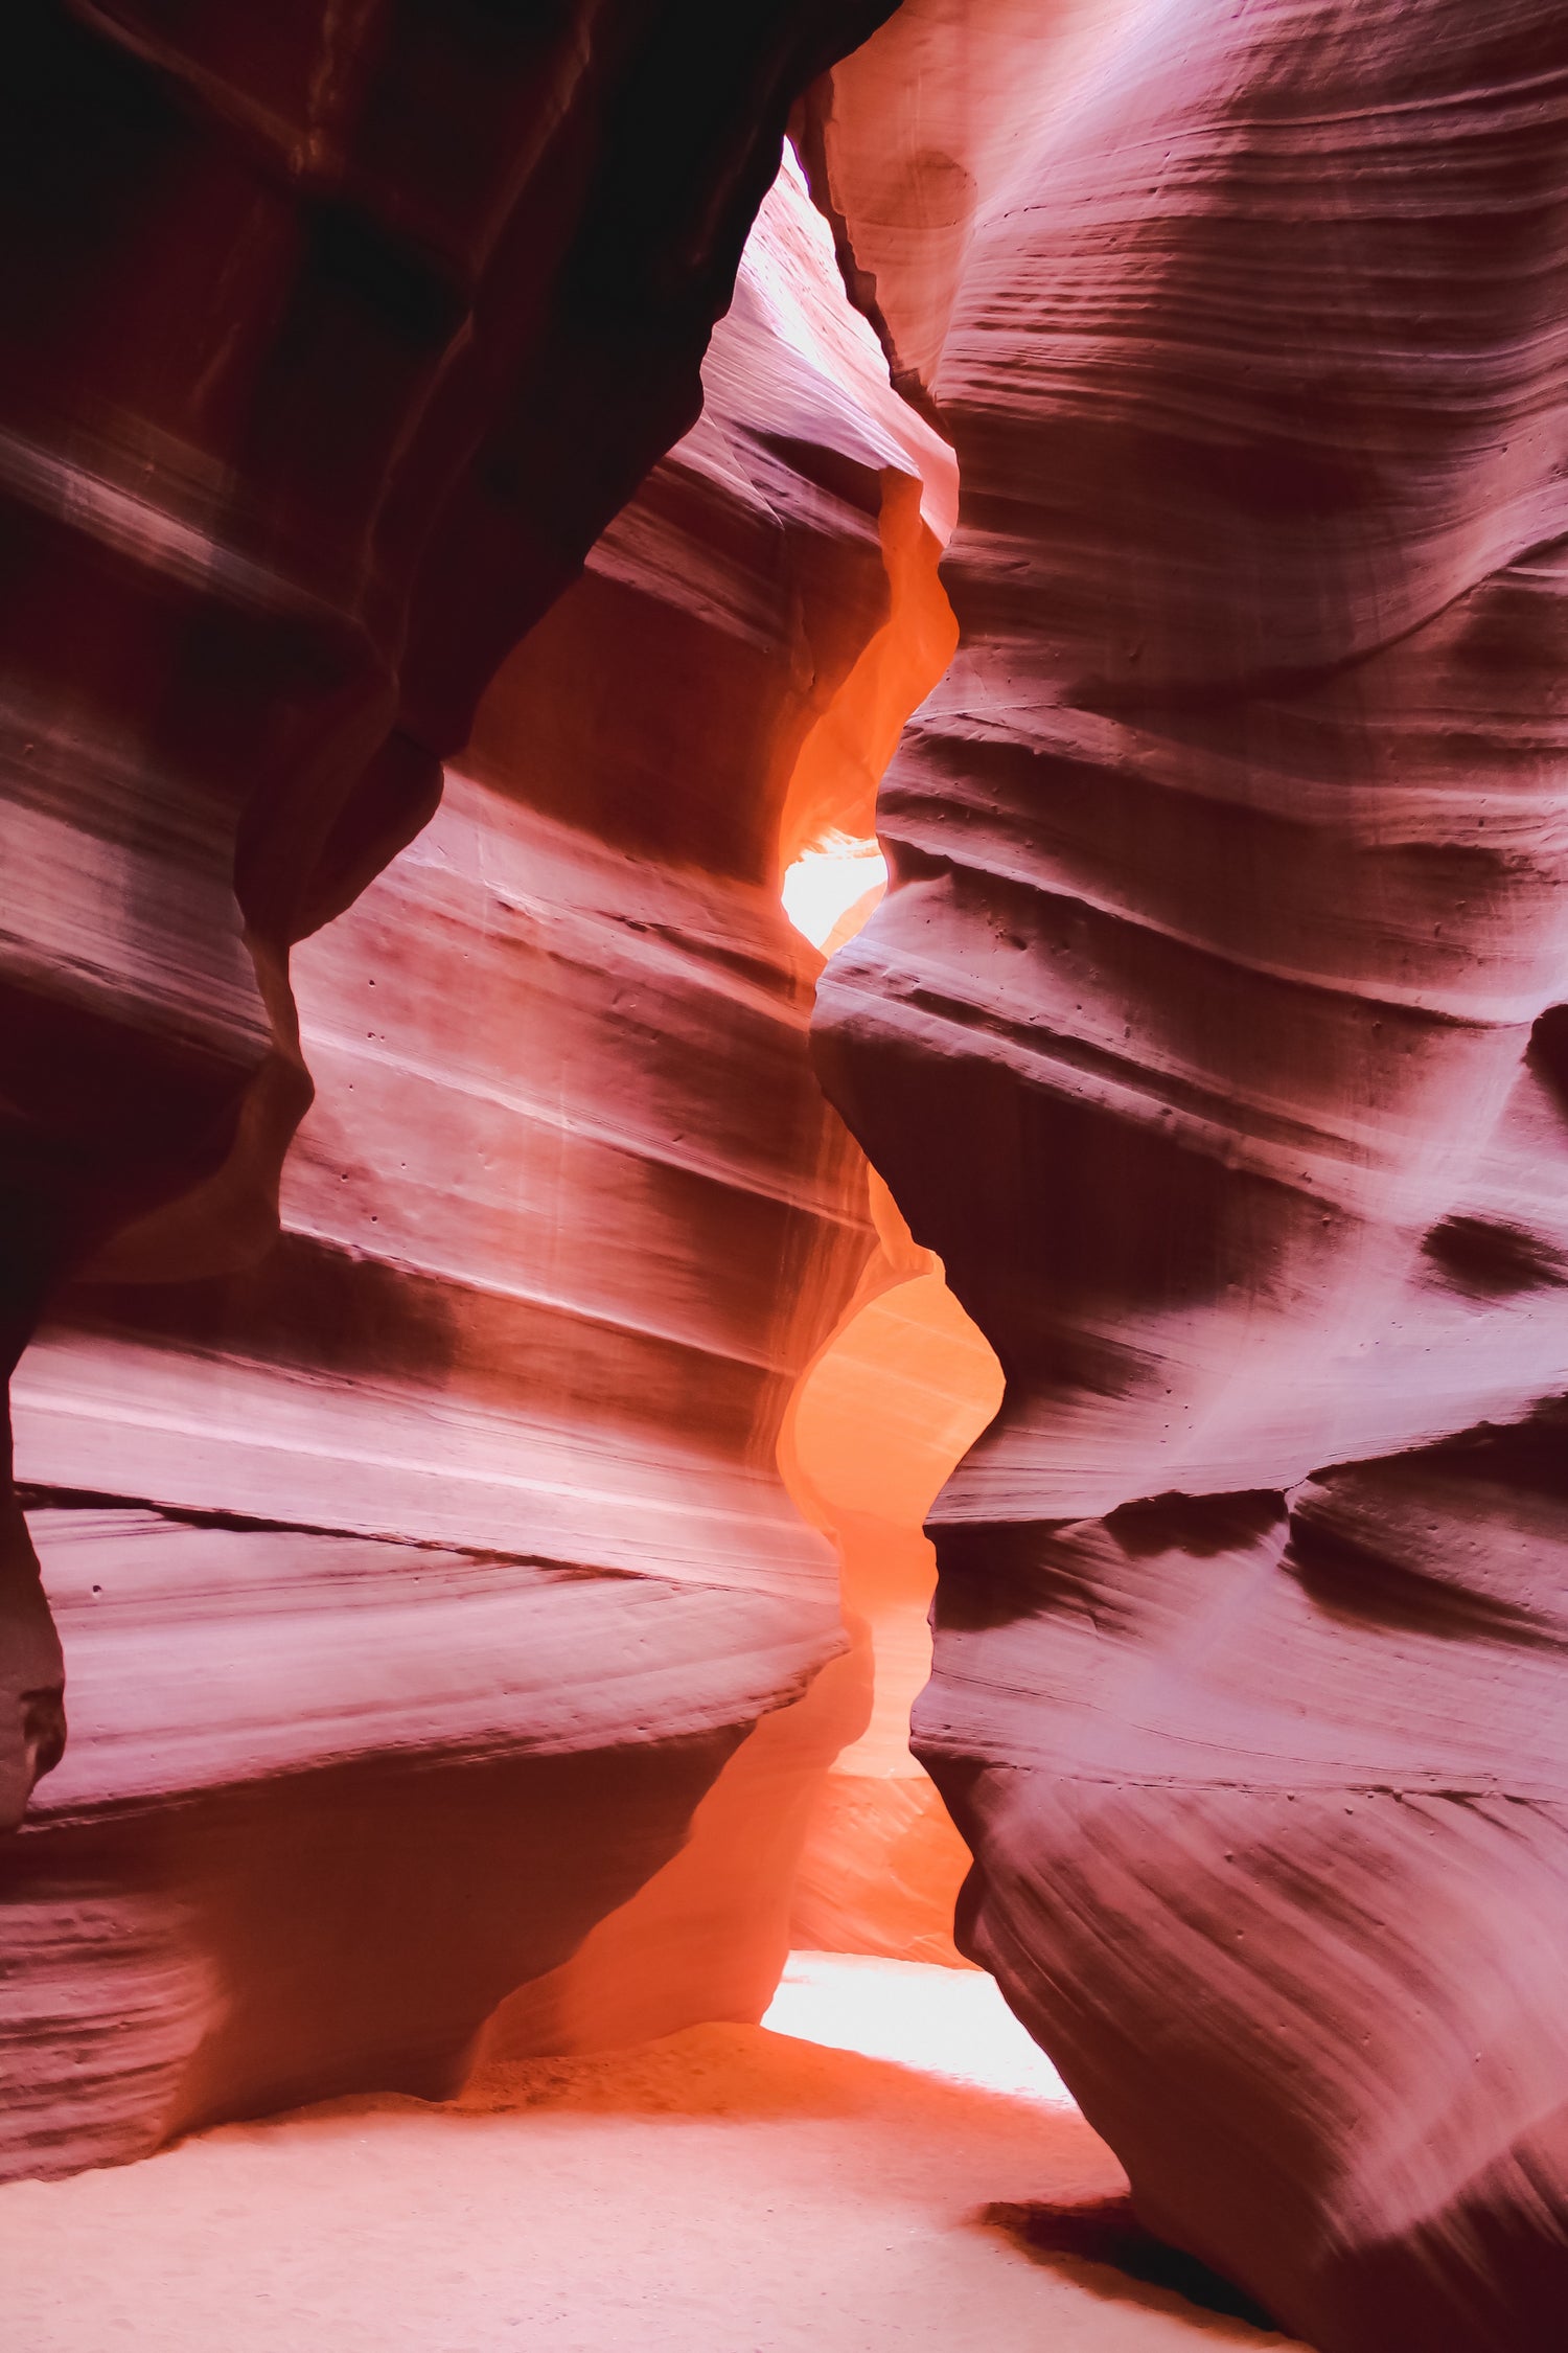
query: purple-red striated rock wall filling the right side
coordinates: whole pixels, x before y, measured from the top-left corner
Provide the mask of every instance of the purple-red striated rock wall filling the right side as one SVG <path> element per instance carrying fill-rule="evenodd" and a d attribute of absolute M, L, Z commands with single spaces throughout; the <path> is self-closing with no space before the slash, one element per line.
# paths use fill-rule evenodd
<path fill-rule="evenodd" d="M 1013 14 L 914 7 L 813 106 L 961 468 L 818 1016 L 1006 1369 L 919 1751 L 1152 2228 L 1324 2353 L 1547 2353 L 1568 26 L 1063 16 L 992 136 Z"/>

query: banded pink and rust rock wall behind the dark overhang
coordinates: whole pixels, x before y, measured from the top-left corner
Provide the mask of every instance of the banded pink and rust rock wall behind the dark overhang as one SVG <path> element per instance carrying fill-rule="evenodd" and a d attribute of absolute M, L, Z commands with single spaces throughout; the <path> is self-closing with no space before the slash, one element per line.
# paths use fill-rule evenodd
<path fill-rule="evenodd" d="M 12 2172 L 451 2087 L 524 1981 L 501 2047 L 771 1995 L 865 1720 L 776 1442 L 872 1245 L 778 835 L 820 729 L 875 753 L 936 442 L 799 176 L 705 374 L 435 821 L 296 951 L 277 1247 L 80 1282 L 16 1374 L 75 1732 L 0 1859 Z"/>

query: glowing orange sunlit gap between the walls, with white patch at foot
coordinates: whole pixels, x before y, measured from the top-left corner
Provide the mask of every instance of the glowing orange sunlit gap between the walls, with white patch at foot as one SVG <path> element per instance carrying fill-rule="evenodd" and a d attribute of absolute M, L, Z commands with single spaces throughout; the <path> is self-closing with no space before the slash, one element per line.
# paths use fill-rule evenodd
<path fill-rule="evenodd" d="M 926 673 L 919 656 L 905 661 L 905 694 L 929 692 L 940 675 L 936 654 L 945 666 L 950 649 L 933 626 L 936 553 L 931 536 L 917 600 Z M 898 624 L 893 593 L 886 668 L 898 668 L 898 645 L 886 642 Z M 886 725 L 886 704 L 879 720 Z M 865 798 L 851 812 L 842 772 L 835 779 L 827 762 L 818 791 L 837 784 L 823 795 L 835 814 L 870 819 L 877 769 L 842 713 L 835 748 L 858 767 Z M 792 798 L 799 821 L 806 812 Z M 870 922 L 886 882 L 875 835 L 832 824 L 783 868 L 780 896 L 790 922 L 827 958 Z M 969 1969 L 952 1944 L 969 1854 L 910 1753 L 910 1706 L 931 1671 L 926 1609 L 936 1581 L 922 1522 L 997 1412 L 1001 1369 L 947 1289 L 940 1259 L 912 1238 L 872 1167 L 867 1200 L 877 1247 L 795 1391 L 778 1457 L 795 1501 L 839 1551 L 867 1720 L 816 1800 L 795 1889 L 795 1953 L 764 2024 L 959 2082 L 1067 2101 L 992 1981 Z"/>

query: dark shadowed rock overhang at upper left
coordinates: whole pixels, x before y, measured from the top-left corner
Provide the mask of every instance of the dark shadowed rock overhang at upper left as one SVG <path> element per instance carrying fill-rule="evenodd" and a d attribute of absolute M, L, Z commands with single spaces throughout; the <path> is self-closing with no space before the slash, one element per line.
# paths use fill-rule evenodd
<path fill-rule="evenodd" d="M 5 1372 L 94 1252 L 273 1238 L 289 944 L 696 416 L 790 101 L 879 7 L 7 12 Z M 12 1821 L 59 1649 L 12 1504 L 0 1546 Z"/>

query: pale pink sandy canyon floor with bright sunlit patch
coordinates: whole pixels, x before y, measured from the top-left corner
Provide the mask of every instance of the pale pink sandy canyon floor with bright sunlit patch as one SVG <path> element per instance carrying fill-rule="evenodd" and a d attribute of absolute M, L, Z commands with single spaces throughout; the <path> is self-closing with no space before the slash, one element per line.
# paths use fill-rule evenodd
<path fill-rule="evenodd" d="M 1135 2278 L 1135 2252 L 1131 2268 L 1063 2252 L 1063 2214 L 1072 2242 L 1072 2217 L 1126 2184 L 990 1979 L 799 1955 L 769 2021 L 494 2068 L 449 2106 L 334 2101 L 143 2165 L 14 2184 L 0 2191 L 5 2341 L 28 2353 L 1288 2341 Z"/>

